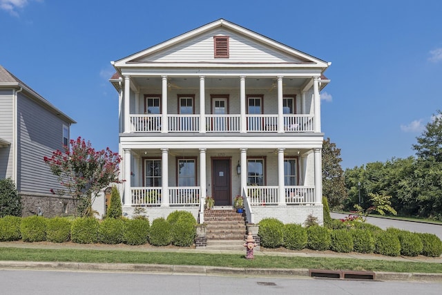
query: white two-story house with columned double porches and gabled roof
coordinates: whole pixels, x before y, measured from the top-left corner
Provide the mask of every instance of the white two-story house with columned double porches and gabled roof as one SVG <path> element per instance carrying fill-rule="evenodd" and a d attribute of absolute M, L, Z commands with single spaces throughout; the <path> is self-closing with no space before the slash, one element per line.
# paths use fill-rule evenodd
<path fill-rule="evenodd" d="M 330 65 L 219 19 L 112 61 L 124 213 L 323 221 L 320 90 Z"/>

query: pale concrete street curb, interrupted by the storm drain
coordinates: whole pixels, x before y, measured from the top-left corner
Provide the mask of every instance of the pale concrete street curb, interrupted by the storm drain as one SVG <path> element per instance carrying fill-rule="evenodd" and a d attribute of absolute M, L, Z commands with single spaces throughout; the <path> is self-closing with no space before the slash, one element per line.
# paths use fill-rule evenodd
<path fill-rule="evenodd" d="M 70 271 L 155 272 L 167 274 L 204 274 L 235 276 L 307 276 L 309 269 L 262 269 L 212 267 L 198 265 L 157 265 L 135 263 L 61 263 L 32 261 L 0 261 L 0 269 L 46 269 Z M 442 281 L 442 274 L 374 272 L 376 280 Z"/>

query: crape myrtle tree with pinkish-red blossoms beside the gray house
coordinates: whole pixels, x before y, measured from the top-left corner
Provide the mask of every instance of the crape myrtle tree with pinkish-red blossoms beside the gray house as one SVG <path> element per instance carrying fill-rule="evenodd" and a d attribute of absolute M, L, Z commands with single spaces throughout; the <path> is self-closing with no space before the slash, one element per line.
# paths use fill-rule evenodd
<path fill-rule="evenodd" d="M 64 146 L 64 151 L 53 151 L 52 157 L 44 157 L 44 162 L 64 187 L 57 193 L 73 197 L 76 216 L 93 216 L 92 204 L 97 194 L 109 184 L 119 182 L 118 153 L 109 148 L 95 151 L 81 137 L 70 140 L 70 147 Z M 53 189 L 51 192 L 55 193 Z"/>

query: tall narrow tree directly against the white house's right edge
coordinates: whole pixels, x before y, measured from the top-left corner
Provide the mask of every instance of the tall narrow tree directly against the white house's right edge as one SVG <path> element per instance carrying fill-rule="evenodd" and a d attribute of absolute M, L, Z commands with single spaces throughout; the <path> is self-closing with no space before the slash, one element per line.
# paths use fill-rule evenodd
<path fill-rule="evenodd" d="M 347 199 L 344 171 L 340 166 L 340 149 L 330 139 L 323 142 L 323 196 L 332 209 L 341 209 Z"/>

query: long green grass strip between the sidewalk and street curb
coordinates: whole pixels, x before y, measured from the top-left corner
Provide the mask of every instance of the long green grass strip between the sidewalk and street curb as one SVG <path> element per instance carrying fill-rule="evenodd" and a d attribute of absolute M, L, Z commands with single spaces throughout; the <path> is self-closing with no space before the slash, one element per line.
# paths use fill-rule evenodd
<path fill-rule="evenodd" d="M 0 260 L 205 265 L 244 268 L 348 269 L 374 272 L 442 273 L 441 263 L 297 256 L 255 256 L 255 259 L 247 260 L 244 258 L 244 255 L 240 254 L 202 254 L 120 250 L 23 249 L 8 247 L 0 249 Z"/>

